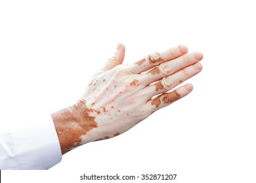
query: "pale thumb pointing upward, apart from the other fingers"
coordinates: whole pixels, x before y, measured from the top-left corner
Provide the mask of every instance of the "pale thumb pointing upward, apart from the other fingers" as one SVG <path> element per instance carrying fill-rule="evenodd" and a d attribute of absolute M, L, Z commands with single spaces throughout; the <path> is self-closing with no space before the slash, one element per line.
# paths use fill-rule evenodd
<path fill-rule="evenodd" d="M 116 67 L 116 65 L 123 63 L 124 58 L 125 58 L 125 45 L 119 43 L 117 46 L 116 52 L 111 58 L 108 59 L 108 61 L 106 62 L 106 65 L 104 65 L 104 67 L 101 70 L 108 71 Z"/>

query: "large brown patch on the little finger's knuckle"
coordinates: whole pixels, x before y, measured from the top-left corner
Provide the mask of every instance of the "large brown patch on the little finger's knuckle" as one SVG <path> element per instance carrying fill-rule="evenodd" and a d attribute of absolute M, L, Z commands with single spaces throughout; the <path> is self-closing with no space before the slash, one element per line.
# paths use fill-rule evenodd
<path fill-rule="evenodd" d="M 181 95 L 177 92 L 177 90 L 174 90 L 173 92 L 159 95 L 152 100 L 151 105 L 159 107 L 161 103 L 173 103 L 179 99 L 181 99 Z"/>

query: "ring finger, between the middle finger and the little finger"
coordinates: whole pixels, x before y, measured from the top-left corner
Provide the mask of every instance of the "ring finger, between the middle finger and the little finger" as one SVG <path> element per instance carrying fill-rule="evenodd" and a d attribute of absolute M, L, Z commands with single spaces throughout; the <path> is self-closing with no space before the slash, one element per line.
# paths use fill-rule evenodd
<path fill-rule="evenodd" d="M 185 80 L 188 80 L 192 76 L 197 75 L 201 71 L 201 63 L 195 63 L 194 65 L 190 65 L 171 76 L 162 78 L 150 86 L 146 86 L 146 88 L 143 90 L 143 93 L 148 93 L 148 96 L 153 97 L 155 95 L 159 95 L 160 93 L 168 92 Z"/>

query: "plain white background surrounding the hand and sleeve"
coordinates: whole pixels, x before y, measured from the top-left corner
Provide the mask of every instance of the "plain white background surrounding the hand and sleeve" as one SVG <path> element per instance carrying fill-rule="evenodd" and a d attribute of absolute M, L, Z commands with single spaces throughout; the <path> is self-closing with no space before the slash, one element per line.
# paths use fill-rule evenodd
<path fill-rule="evenodd" d="M 125 63 L 179 44 L 204 55 L 184 99 L 119 137 L 72 150 L 49 171 L 2 171 L 2 181 L 118 173 L 256 182 L 255 17 L 245 0 L 0 1 L 1 122 L 36 122 L 73 105 L 118 42 Z"/>

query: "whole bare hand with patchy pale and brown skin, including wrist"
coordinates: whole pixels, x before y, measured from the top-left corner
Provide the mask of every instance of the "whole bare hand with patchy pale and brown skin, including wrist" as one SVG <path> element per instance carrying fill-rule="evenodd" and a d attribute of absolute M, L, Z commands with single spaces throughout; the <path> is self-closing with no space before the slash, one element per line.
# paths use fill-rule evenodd
<path fill-rule="evenodd" d="M 166 93 L 202 71 L 198 63 L 202 53 L 187 52 L 186 46 L 178 46 L 123 65 L 125 46 L 119 44 L 81 99 L 52 114 L 62 154 L 87 142 L 115 137 L 188 95 L 192 84 Z"/>

